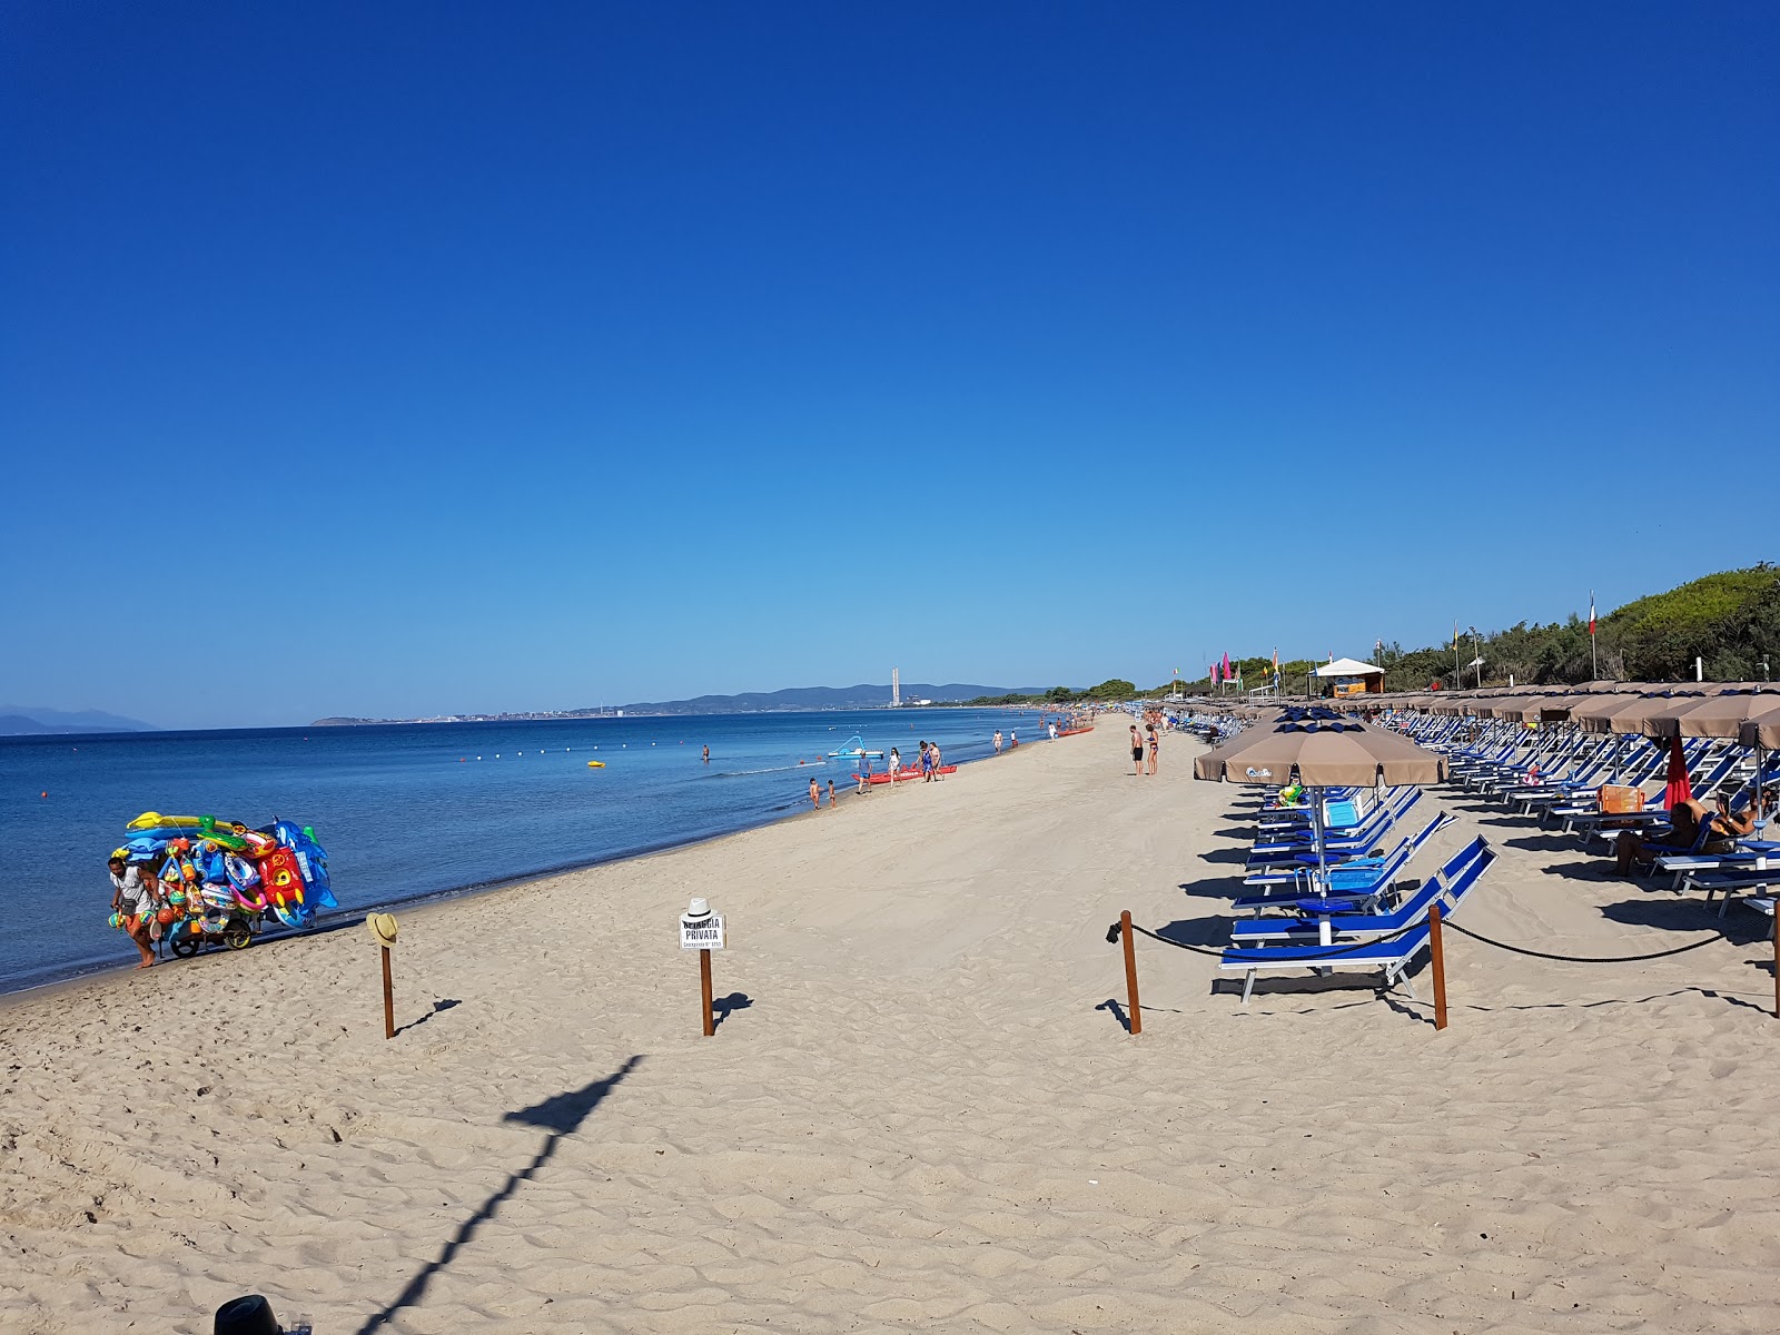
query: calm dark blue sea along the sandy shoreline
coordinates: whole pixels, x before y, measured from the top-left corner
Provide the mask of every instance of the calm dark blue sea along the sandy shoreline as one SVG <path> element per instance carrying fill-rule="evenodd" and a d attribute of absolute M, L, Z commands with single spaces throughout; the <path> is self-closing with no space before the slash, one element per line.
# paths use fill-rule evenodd
<path fill-rule="evenodd" d="M 1036 742 L 1040 716 L 878 708 L 0 737 L 0 991 L 135 963 L 107 922 L 105 858 L 141 812 L 313 826 L 335 918 L 352 920 L 780 821 L 808 810 L 812 776 L 849 801 L 856 765 L 828 753 L 854 735 L 899 748 L 904 765 L 922 739 L 947 764 L 974 764 L 993 755 L 997 728 Z"/>

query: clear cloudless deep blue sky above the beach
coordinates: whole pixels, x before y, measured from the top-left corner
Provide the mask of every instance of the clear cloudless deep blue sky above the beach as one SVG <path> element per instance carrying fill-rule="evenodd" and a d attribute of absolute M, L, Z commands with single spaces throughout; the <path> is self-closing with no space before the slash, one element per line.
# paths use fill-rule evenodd
<path fill-rule="evenodd" d="M 1155 682 L 1776 555 L 1728 481 L 1780 427 L 1775 5 L 27 0 L 0 46 L 4 700 Z"/>

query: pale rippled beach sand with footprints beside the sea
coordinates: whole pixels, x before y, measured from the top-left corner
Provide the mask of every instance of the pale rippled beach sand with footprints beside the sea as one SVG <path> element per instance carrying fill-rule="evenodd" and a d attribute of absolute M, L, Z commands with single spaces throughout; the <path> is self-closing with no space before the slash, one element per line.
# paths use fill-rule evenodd
<path fill-rule="evenodd" d="M 1143 942 L 1132 1038 L 1105 927 L 1226 940 L 1246 794 L 1184 739 L 1132 778 L 1123 737 L 406 911 L 395 1041 L 363 927 L 5 1004 L 0 1330 L 208 1331 L 255 1290 L 329 1335 L 1773 1324 L 1766 918 L 1641 965 L 1454 942 L 1440 1034 Z M 1716 924 L 1481 821 L 1415 867 L 1488 833 L 1481 931 Z"/>

